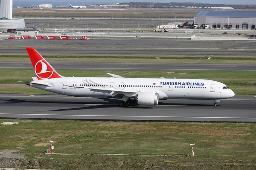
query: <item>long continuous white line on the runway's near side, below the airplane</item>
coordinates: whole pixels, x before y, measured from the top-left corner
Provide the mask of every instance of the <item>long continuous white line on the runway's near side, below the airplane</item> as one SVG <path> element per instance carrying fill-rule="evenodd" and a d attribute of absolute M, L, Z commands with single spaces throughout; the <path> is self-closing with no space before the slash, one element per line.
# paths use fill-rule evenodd
<path fill-rule="evenodd" d="M 256 117 L 199 117 L 199 116 L 123 116 L 123 115 L 77 115 L 77 114 L 23 114 L 0 113 L 0 115 L 27 115 L 27 116 L 84 116 L 84 117 L 145 117 L 145 118 L 200 118 L 200 119 L 256 119 Z"/>

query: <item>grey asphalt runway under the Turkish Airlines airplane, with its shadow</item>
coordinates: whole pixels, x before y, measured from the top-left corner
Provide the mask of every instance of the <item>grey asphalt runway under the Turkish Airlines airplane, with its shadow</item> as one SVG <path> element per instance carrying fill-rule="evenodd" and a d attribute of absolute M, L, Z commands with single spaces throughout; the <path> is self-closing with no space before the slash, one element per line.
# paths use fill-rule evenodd
<path fill-rule="evenodd" d="M 131 121 L 256 122 L 256 96 L 210 100 L 162 100 L 157 106 L 120 108 L 119 100 L 62 95 L 0 94 L 1 118 Z"/>

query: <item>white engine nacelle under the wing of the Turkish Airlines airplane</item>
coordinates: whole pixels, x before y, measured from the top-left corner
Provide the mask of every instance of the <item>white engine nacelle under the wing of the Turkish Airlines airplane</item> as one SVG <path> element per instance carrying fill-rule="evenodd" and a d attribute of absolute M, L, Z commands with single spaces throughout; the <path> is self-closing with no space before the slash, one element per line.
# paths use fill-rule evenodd
<path fill-rule="evenodd" d="M 135 101 L 138 105 L 154 106 L 158 105 L 158 96 L 155 92 L 139 93 L 136 94 Z"/>

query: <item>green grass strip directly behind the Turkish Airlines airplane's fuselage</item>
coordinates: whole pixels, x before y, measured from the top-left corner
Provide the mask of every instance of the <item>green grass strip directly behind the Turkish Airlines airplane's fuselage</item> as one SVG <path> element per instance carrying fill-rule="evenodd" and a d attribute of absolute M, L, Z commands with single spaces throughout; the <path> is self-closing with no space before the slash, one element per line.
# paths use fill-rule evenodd
<path fill-rule="evenodd" d="M 65 77 L 110 77 L 106 73 L 134 78 L 176 78 L 176 79 L 211 79 L 228 85 L 235 94 L 256 94 L 256 72 L 223 72 L 223 71 L 109 71 L 109 70 L 57 70 Z M 24 83 L 32 81 L 33 70 L 0 70 L 0 93 L 48 94 Z M 15 73 L 15 74 L 14 74 Z M 22 84 L 22 85 L 15 85 Z M 26 88 L 28 87 L 28 88 Z"/>

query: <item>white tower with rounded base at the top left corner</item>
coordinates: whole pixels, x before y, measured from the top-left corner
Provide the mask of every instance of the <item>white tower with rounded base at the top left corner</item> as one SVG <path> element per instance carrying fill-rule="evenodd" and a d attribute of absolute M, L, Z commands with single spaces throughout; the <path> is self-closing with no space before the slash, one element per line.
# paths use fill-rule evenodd
<path fill-rule="evenodd" d="M 25 21 L 12 20 L 12 0 L 0 0 L 0 31 L 13 32 L 17 28 L 25 28 Z"/>

